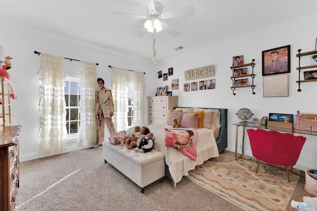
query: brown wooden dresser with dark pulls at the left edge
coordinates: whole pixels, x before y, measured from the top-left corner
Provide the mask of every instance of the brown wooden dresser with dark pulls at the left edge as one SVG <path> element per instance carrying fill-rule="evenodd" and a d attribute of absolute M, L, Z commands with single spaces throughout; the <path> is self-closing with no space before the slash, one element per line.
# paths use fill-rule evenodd
<path fill-rule="evenodd" d="M 19 187 L 21 126 L 0 127 L 0 211 L 14 211 Z"/>

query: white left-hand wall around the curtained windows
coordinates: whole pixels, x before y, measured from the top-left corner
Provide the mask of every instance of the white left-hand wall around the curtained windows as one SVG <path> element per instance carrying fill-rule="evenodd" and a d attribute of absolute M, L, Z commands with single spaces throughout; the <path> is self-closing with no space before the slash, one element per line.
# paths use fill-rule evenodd
<path fill-rule="evenodd" d="M 40 56 L 34 51 L 62 56 L 82 61 L 99 63 L 97 76 L 105 80 L 111 88 L 111 69 L 108 65 L 140 72 L 149 72 L 146 80 L 156 76 L 156 66 L 151 60 L 125 55 L 93 43 L 74 38 L 66 38 L 52 32 L 22 25 L 1 17 L 0 45 L 5 47 L 5 55 L 10 55 L 12 68 L 9 71 L 11 83 L 16 89 L 17 99 L 11 100 L 11 125 L 22 125 L 20 134 L 20 160 L 41 158 L 38 154 L 39 130 L 39 84 L 37 71 Z M 79 76 L 80 62 L 65 59 L 65 72 Z M 153 71 L 151 71 L 153 70 Z M 96 79 L 97 80 L 97 79 Z M 97 81 L 96 81 L 97 87 Z M 151 89 L 149 89 L 151 90 Z M 151 93 L 147 93 L 147 96 Z M 107 131 L 106 131 L 107 132 Z M 81 149 L 76 142 L 66 144 L 66 151 Z"/>

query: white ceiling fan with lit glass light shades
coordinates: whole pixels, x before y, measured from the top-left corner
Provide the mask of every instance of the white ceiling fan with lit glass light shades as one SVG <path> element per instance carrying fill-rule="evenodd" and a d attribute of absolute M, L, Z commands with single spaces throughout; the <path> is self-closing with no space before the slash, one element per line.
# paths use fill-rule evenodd
<path fill-rule="evenodd" d="M 179 35 L 179 32 L 165 23 L 160 19 L 169 19 L 169 18 L 176 18 L 176 17 L 183 17 L 188 15 L 195 14 L 194 6 L 188 6 L 184 8 L 179 8 L 176 10 L 172 10 L 169 12 L 163 11 L 163 5 L 154 0 L 145 0 L 146 1 L 146 8 L 148 10 L 147 15 L 138 15 L 138 14 L 130 14 L 130 13 L 122 13 L 122 12 L 112 12 L 114 16 L 121 16 L 121 17 L 128 17 L 128 18 L 141 18 L 141 19 L 148 19 L 144 23 L 143 29 L 139 32 L 138 36 L 142 37 L 145 33 L 159 33 L 162 30 L 167 31 L 171 36 L 176 37 Z"/>

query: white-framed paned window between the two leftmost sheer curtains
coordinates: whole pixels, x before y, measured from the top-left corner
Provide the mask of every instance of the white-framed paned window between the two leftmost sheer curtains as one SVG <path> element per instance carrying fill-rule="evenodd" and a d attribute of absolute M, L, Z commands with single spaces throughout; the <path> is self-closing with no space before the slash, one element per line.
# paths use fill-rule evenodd
<path fill-rule="evenodd" d="M 65 102 L 66 102 L 66 129 L 67 137 L 78 136 L 80 114 L 79 99 L 80 86 L 78 77 L 66 76 L 65 79 Z"/>

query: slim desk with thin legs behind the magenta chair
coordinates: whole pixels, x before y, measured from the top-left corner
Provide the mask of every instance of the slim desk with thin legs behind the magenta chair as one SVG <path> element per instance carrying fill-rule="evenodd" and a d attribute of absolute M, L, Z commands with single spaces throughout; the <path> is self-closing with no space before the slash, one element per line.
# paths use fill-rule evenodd
<path fill-rule="evenodd" d="M 306 131 L 306 130 L 299 130 L 299 129 L 295 129 L 295 128 L 287 129 L 287 128 L 280 128 L 280 127 L 267 127 L 267 126 L 263 126 L 263 125 L 261 125 L 259 127 L 259 126 L 249 126 L 249 125 L 245 125 L 245 124 L 242 124 L 242 123 L 235 123 L 233 125 L 236 126 L 236 148 L 235 148 L 235 155 L 234 155 L 234 160 L 235 161 L 237 160 L 238 129 L 239 129 L 240 126 L 243 127 L 243 130 L 242 130 L 242 153 L 240 155 L 240 158 L 242 158 L 242 156 L 244 155 L 245 127 L 253 127 L 253 128 L 261 128 L 261 129 L 268 129 L 268 130 L 283 131 L 283 132 L 291 132 L 292 134 L 299 133 L 299 134 L 317 135 L 317 131 Z"/>

